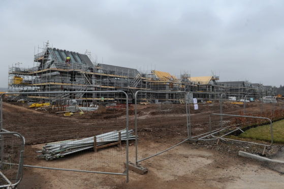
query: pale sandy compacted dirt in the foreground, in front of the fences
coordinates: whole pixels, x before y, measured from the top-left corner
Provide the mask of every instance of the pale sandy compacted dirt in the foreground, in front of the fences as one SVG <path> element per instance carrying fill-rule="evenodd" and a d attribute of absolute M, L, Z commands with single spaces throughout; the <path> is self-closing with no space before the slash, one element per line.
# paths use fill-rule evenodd
<path fill-rule="evenodd" d="M 166 148 L 154 143 L 153 147 Z M 149 153 L 154 151 L 149 150 Z M 134 160 L 134 146 L 130 159 Z M 24 169 L 18 188 L 282 188 L 284 176 L 236 153 L 183 143 L 142 163 L 148 173 L 110 176 L 56 170 Z"/>

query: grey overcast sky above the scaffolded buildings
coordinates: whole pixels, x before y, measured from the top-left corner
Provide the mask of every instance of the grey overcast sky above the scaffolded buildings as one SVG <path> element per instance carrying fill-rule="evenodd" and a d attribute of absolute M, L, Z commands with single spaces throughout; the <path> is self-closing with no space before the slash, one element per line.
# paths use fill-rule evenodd
<path fill-rule="evenodd" d="M 279 86 L 283 18 L 284 1 L 0 0 L 0 86 L 48 40 L 115 66 Z"/>

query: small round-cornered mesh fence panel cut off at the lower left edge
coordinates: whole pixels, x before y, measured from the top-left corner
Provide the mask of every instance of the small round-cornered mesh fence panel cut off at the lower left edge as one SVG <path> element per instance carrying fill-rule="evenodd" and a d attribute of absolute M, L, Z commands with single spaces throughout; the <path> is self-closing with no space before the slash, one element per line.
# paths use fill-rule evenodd
<path fill-rule="evenodd" d="M 14 188 L 23 177 L 24 137 L 17 132 L 4 131 L 0 132 L 0 139 L 0 176 L 3 178 L 0 188 Z"/>

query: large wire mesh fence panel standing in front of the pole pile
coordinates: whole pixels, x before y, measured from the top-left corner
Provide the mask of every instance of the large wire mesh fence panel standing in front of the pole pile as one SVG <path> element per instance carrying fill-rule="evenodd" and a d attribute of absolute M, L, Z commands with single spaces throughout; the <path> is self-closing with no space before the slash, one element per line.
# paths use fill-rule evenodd
<path fill-rule="evenodd" d="M 125 95 L 125 109 L 119 112 L 107 109 L 114 103 L 96 98 L 115 93 Z M 8 96 L 17 102 L 3 102 Z M 35 98 L 42 104 L 32 105 Z M 1 129 L 25 137 L 24 167 L 124 175 L 128 181 L 129 139 L 134 139 L 128 110 L 128 95 L 121 90 L 72 91 L 72 96 L 70 91 L 10 92 L 1 96 Z M 120 124 L 114 121 L 117 116 L 123 117 Z"/>

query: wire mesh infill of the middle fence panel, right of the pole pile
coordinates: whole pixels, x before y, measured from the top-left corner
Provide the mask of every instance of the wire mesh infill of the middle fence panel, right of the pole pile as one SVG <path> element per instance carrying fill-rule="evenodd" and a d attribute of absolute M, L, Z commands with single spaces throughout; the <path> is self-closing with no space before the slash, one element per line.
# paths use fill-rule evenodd
<path fill-rule="evenodd" d="M 163 150 L 187 139 L 186 106 L 176 99 L 178 96 L 181 97 L 178 92 L 145 93 L 150 98 L 148 102 L 152 104 L 137 105 L 135 119 L 139 136 L 137 162 L 144 161 L 154 154 L 163 153 Z M 167 111 L 161 111 L 164 110 L 161 105 L 164 105 L 163 108 Z"/>

